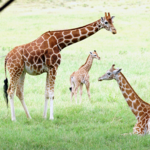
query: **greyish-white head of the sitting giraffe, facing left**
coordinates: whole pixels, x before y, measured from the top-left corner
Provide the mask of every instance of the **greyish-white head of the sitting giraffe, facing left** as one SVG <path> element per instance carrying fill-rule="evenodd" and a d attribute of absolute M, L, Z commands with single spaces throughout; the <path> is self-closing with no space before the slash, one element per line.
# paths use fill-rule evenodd
<path fill-rule="evenodd" d="M 112 80 L 118 79 L 118 74 L 121 72 L 121 69 L 115 69 L 114 68 L 114 64 L 112 65 L 112 67 L 101 77 L 98 78 L 98 81 L 103 81 L 103 80 Z"/>

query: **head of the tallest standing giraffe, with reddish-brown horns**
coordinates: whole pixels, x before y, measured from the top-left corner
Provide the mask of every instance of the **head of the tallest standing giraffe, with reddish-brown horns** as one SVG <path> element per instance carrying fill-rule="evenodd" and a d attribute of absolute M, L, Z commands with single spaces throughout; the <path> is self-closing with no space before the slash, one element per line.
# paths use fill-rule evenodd
<path fill-rule="evenodd" d="M 114 25 L 113 25 L 113 19 L 115 16 L 110 16 L 110 13 L 105 12 L 105 17 L 101 17 L 101 24 L 102 27 L 105 28 L 106 30 L 112 32 L 112 34 L 116 34 L 117 30 L 115 29 Z"/>

